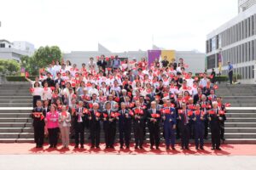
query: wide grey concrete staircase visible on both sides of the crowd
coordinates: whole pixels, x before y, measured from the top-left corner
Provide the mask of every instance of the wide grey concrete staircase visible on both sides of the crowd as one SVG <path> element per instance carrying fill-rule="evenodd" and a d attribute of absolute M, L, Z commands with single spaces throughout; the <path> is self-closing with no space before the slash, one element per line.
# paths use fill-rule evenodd
<path fill-rule="evenodd" d="M 29 88 L 28 82 L 0 84 L 0 142 L 33 142 Z M 256 144 L 256 86 L 220 84 L 217 94 L 231 104 L 226 113 L 225 143 Z"/>

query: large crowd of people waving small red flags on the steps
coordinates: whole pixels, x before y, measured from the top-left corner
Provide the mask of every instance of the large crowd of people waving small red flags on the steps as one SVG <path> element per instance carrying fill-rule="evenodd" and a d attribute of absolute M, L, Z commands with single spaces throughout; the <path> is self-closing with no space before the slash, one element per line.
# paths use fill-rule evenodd
<path fill-rule="evenodd" d="M 99 148 L 101 131 L 106 149 L 113 148 L 119 134 L 120 149 L 129 149 L 134 138 L 135 149 L 143 149 L 148 138 L 150 149 L 159 150 L 164 139 L 166 150 L 204 150 L 204 139 L 211 129 L 212 150 L 220 150 L 224 140 L 225 107 L 216 96 L 215 75 L 201 73 L 192 77 L 183 59 L 137 61 L 104 55 L 90 58 L 79 69 L 69 60 L 55 61 L 40 69 L 32 83 L 32 118 L 37 148 L 42 148 L 45 134 L 49 147 L 55 148 L 59 137 L 67 148 L 70 137 L 75 148 L 84 148 L 84 129 L 90 132 L 90 147 Z M 133 137 L 133 138 L 131 138 Z"/>

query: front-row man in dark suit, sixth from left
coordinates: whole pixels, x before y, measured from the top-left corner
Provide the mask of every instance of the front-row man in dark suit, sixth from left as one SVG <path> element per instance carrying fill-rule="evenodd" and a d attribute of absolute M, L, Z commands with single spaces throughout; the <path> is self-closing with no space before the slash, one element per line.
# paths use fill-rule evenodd
<path fill-rule="evenodd" d="M 115 111 L 111 109 L 111 103 L 106 102 L 105 104 L 105 110 L 102 111 L 103 114 L 103 129 L 105 133 L 105 143 L 106 143 L 106 149 L 112 148 L 114 144 L 115 139 L 115 133 L 116 133 L 116 116 Z"/>

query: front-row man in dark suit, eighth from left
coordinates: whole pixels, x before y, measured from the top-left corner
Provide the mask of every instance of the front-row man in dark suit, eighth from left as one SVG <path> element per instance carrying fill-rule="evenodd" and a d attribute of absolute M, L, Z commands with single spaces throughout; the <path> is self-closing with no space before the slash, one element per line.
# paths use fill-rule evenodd
<path fill-rule="evenodd" d="M 134 113 L 134 138 L 135 138 L 135 149 L 140 147 L 143 149 L 144 140 L 144 126 L 146 113 L 140 105 L 139 100 L 135 102 L 136 107 L 132 109 Z"/>

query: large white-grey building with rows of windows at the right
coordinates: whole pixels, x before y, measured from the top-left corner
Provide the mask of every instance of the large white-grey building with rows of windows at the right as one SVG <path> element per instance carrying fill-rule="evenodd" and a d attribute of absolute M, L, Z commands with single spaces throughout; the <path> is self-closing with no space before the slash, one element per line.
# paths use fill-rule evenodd
<path fill-rule="evenodd" d="M 227 75 L 230 61 L 241 83 L 256 83 L 256 0 L 239 4 L 243 8 L 235 18 L 207 35 L 207 71 L 218 70 L 220 59 L 221 73 Z"/>

